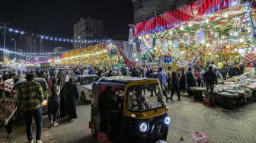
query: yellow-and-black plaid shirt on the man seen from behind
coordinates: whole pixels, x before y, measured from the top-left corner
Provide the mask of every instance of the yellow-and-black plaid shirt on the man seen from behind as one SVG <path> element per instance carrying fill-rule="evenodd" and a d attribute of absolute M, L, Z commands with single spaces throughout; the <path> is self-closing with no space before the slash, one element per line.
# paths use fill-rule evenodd
<path fill-rule="evenodd" d="M 40 83 L 29 81 L 18 91 L 18 105 L 22 110 L 36 110 L 43 103 L 43 88 Z"/>

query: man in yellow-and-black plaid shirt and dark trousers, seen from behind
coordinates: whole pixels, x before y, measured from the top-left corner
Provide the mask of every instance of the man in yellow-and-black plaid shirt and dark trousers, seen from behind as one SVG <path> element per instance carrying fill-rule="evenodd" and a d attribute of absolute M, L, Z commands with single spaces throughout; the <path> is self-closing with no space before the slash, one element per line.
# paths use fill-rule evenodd
<path fill-rule="evenodd" d="M 43 143 L 40 140 L 42 130 L 42 103 L 43 88 L 39 83 L 34 82 L 34 75 L 26 76 L 27 83 L 22 85 L 18 91 L 18 105 L 23 110 L 28 143 L 33 143 L 32 118 L 34 117 L 37 124 L 37 143 Z"/>

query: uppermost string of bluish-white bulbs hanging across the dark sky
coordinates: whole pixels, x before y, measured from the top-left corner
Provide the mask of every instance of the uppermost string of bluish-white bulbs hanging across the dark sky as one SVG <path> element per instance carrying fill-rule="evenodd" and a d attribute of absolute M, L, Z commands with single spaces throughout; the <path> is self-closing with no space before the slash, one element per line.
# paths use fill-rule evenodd
<path fill-rule="evenodd" d="M 21 35 L 30 34 L 32 36 L 40 37 L 43 40 L 50 40 L 50 41 L 63 42 L 63 43 L 101 43 L 101 42 L 107 42 L 108 41 L 106 39 L 102 39 L 102 40 L 82 40 L 80 38 L 70 39 L 70 38 L 62 38 L 62 37 L 50 37 L 50 36 L 46 36 L 46 35 L 43 35 L 43 34 L 30 33 L 30 32 L 26 32 L 26 31 L 23 31 L 23 30 L 13 29 L 11 27 L 0 26 L 0 29 L 1 28 L 7 28 L 8 29 L 7 31 L 10 32 L 10 33 L 17 33 L 17 34 L 21 34 Z"/>

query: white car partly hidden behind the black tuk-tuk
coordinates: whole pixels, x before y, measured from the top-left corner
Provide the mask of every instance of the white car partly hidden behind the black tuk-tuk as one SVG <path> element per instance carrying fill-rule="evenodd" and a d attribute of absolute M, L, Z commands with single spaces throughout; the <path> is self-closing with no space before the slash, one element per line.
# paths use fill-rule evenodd
<path fill-rule="evenodd" d="M 76 75 L 76 86 L 78 88 L 79 97 L 83 102 L 91 101 L 92 95 L 92 83 L 96 78 L 97 75 Z"/>

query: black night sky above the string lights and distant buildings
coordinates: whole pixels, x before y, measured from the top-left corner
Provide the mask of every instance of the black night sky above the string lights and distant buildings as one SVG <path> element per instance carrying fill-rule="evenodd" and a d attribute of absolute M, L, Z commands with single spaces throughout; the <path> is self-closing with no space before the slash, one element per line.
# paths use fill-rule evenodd
<path fill-rule="evenodd" d="M 130 0 L 1 0 L 0 21 L 8 27 L 51 37 L 73 37 L 73 25 L 80 17 L 102 20 L 104 35 L 113 40 L 127 40 L 128 24 L 133 24 Z M 2 31 L 2 30 L 1 30 Z M 7 34 L 11 46 L 13 34 Z M 3 36 L 0 34 L 0 46 Z M 71 44 L 46 42 L 47 51 L 55 46 L 71 48 Z M 10 47 L 11 48 L 11 47 Z M 8 48 L 8 49 L 10 49 Z M 12 49 L 12 48 L 11 48 Z"/>

